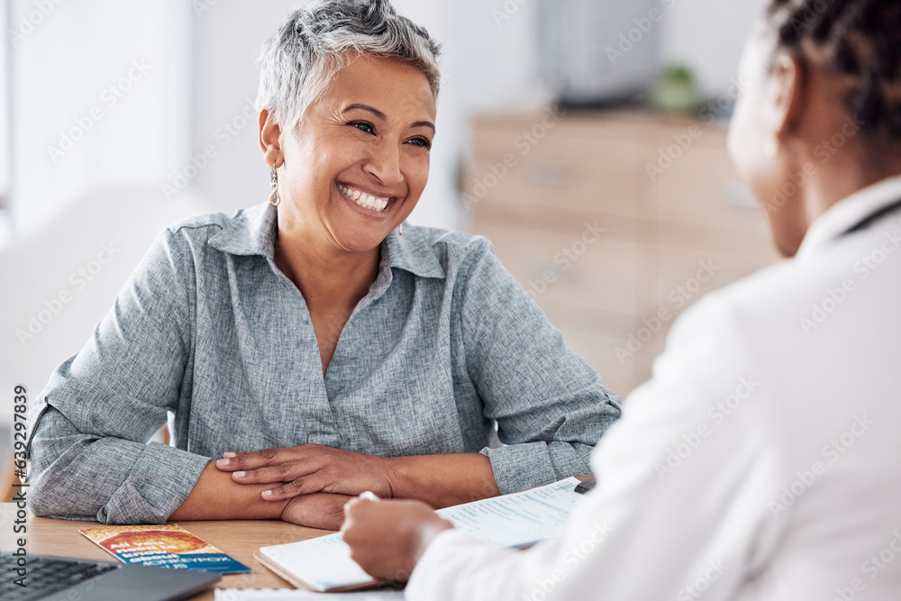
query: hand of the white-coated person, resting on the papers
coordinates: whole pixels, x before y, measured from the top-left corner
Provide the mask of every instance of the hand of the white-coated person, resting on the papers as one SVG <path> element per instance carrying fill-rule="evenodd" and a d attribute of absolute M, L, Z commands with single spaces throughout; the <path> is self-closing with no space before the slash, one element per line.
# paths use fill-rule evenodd
<path fill-rule="evenodd" d="M 344 505 L 341 535 L 350 558 L 369 576 L 403 582 L 439 533 L 453 524 L 422 501 L 370 501 Z"/>

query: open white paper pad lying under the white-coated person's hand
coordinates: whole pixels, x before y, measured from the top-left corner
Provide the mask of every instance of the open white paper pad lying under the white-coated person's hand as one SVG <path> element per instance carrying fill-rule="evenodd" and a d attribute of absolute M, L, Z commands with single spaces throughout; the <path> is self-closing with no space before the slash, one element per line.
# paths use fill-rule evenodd
<path fill-rule="evenodd" d="M 503 547 L 528 547 L 563 532 L 582 498 L 577 478 L 567 478 L 513 495 L 495 496 L 440 509 L 437 514 L 462 533 Z M 354 560 L 341 534 L 262 547 L 260 563 L 296 587 L 340 592 L 378 585 Z"/>

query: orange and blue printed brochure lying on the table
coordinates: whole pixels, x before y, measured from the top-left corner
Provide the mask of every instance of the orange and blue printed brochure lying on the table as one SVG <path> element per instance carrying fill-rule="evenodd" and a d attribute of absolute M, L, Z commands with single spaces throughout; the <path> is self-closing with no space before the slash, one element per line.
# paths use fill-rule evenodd
<path fill-rule="evenodd" d="M 78 532 L 123 563 L 159 568 L 196 569 L 217 574 L 252 571 L 203 539 L 176 524 L 100 526 Z"/>

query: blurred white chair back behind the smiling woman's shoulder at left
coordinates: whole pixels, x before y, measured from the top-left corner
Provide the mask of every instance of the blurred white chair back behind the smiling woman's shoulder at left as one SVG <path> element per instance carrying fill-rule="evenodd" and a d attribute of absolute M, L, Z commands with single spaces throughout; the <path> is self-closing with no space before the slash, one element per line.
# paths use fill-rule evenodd
<path fill-rule="evenodd" d="M 23 384 L 36 398 L 85 344 L 157 233 L 185 211 L 207 210 L 187 196 L 182 205 L 160 203 L 156 186 L 113 187 L 79 198 L 0 252 L 0 390 Z M 0 424 L 11 415 L 0 413 Z"/>

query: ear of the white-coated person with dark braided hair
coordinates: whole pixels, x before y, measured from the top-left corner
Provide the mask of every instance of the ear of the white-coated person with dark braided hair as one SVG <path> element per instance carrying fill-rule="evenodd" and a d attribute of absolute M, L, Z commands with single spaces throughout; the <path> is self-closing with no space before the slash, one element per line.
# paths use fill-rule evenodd
<path fill-rule="evenodd" d="M 770 68 L 763 120 L 769 132 L 786 140 L 796 132 L 805 105 L 805 71 L 796 56 L 777 50 Z"/>

